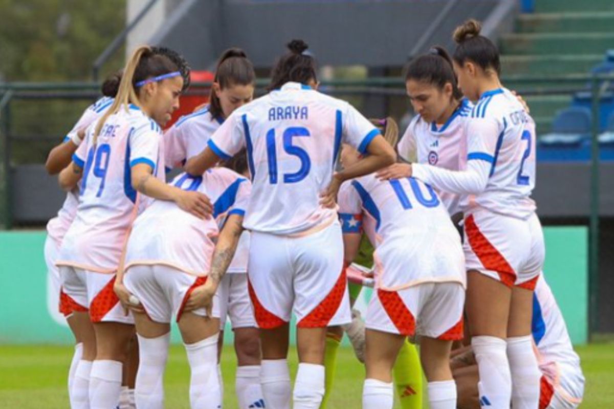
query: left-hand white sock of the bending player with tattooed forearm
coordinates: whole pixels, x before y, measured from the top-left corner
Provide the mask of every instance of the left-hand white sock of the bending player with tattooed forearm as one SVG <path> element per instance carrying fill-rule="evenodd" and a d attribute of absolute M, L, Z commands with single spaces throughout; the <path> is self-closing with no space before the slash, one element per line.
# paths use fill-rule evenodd
<path fill-rule="evenodd" d="M 164 407 L 164 369 L 168 357 L 171 333 L 157 338 L 139 340 L 139 370 L 136 373 L 134 403 L 139 408 L 161 409 Z"/>

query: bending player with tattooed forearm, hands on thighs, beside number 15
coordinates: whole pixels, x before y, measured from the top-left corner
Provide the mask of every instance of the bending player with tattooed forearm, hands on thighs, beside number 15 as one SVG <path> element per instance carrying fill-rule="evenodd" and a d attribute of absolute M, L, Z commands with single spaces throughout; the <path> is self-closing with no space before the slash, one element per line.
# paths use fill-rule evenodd
<path fill-rule="evenodd" d="M 214 202 L 214 218 L 224 218 L 218 235 L 215 220 L 203 220 L 168 201 L 154 201 L 134 221 L 126 248 L 128 291 L 139 300 L 134 321 L 139 337 L 136 406 L 163 407 L 162 378 L 170 342 L 170 321 L 176 316 L 192 370 L 192 408 L 221 407 L 217 375 L 220 305 L 217 287 L 239 242 L 250 183 L 230 169 L 218 167 L 200 177 L 177 176 L 171 185 L 206 194 Z M 215 247 L 215 253 L 214 253 Z M 214 294 L 215 297 L 214 297 Z M 137 304 L 134 302 L 132 304 Z"/>

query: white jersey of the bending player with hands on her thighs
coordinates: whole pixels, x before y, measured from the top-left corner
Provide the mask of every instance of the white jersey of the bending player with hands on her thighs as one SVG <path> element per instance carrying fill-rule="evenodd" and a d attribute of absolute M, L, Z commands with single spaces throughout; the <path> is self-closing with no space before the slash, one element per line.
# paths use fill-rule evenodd
<path fill-rule="evenodd" d="M 138 264 L 163 264 L 192 275 L 209 273 L 219 229 L 216 220 L 245 213 L 251 183 L 224 167 L 201 177 L 177 175 L 171 185 L 206 194 L 213 203 L 213 217 L 203 220 L 174 202 L 155 200 L 134 221 L 126 249 L 126 269 Z"/>

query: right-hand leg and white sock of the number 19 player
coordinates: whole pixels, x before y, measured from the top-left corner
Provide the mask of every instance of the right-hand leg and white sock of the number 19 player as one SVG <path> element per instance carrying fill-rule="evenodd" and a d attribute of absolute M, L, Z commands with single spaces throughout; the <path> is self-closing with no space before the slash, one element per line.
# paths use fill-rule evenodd
<path fill-rule="evenodd" d="M 93 326 L 96 359 L 91 367 L 90 406 L 114 408 L 119 405 L 126 346 L 134 334 L 134 326 L 112 322 L 95 323 Z"/>

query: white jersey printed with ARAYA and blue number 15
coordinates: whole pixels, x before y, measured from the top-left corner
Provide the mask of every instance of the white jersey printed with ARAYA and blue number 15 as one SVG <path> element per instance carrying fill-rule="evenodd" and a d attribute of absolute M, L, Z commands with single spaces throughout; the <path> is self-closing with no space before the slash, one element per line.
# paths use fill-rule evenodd
<path fill-rule="evenodd" d="M 341 143 L 365 153 L 377 135 L 348 102 L 289 82 L 235 110 L 209 147 L 222 158 L 247 148 L 253 189 L 244 225 L 284 235 L 335 220 L 319 195 L 332 180 Z"/>

